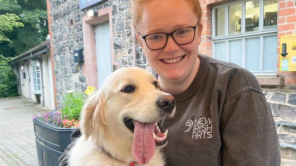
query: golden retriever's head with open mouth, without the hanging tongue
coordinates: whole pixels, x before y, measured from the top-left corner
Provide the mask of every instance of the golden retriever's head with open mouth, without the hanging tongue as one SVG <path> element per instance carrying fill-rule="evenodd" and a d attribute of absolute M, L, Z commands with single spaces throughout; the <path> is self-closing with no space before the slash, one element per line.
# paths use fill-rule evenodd
<path fill-rule="evenodd" d="M 100 90 L 89 97 L 81 111 L 80 126 L 85 139 L 91 136 L 94 140 L 112 135 L 135 141 L 145 130 L 150 132 L 149 139 L 161 146 L 166 143 L 167 131 L 161 131 L 156 121 L 174 112 L 175 99 L 160 91 L 152 74 L 124 67 L 110 74 Z"/>

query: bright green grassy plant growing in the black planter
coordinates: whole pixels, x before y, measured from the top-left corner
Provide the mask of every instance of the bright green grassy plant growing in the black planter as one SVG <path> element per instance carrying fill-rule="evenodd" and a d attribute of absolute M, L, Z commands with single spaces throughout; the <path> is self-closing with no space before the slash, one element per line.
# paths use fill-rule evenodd
<path fill-rule="evenodd" d="M 87 95 L 83 92 L 71 91 L 66 93 L 63 98 L 63 106 L 60 109 L 63 115 L 68 119 L 79 119 L 79 115 Z"/>

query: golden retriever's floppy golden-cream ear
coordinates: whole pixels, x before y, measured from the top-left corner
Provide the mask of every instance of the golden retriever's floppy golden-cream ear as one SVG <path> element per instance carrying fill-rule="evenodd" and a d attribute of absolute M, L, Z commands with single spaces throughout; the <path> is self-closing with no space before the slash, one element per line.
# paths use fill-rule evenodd
<path fill-rule="evenodd" d="M 80 129 L 84 133 L 85 140 L 90 136 L 98 140 L 104 132 L 105 121 L 105 99 L 103 89 L 90 95 L 84 104 L 80 115 Z"/>

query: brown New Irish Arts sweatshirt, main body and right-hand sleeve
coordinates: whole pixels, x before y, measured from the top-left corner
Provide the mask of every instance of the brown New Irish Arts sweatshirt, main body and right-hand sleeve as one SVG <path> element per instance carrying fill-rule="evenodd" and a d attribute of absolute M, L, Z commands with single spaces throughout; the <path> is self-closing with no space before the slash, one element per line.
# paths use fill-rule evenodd
<path fill-rule="evenodd" d="M 180 165 L 280 165 L 273 115 L 254 75 L 205 55 L 190 87 L 173 95 L 166 163 Z"/>

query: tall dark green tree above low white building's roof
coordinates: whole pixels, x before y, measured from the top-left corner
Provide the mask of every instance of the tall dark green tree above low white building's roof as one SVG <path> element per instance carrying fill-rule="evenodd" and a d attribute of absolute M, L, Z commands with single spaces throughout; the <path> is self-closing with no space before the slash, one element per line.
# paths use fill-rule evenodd
<path fill-rule="evenodd" d="M 15 22 L 23 26 L 10 26 L 13 30 L 3 32 L 8 40 L 0 43 L 0 54 L 14 57 L 46 40 L 48 35 L 46 0 L 0 0 L 0 14 L 6 15 L 6 13 L 16 16 Z M 1 26 L 5 26 L 3 22 L 0 18 L 0 40 Z"/>

